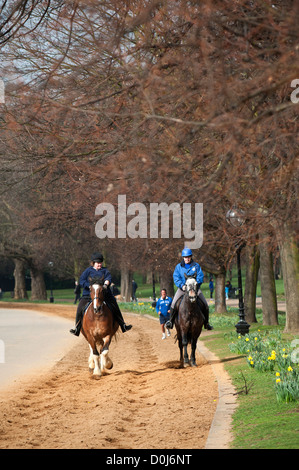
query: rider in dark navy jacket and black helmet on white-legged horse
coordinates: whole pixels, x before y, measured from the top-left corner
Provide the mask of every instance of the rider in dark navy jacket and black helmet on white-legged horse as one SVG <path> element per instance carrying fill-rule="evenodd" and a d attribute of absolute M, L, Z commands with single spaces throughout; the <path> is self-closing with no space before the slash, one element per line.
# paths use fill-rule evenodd
<path fill-rule="evenodd" d="M 108 308 L 111 310 L 115 320 L 119 324 L 121 331 L 125 333 L 132 328 L 132 325 L 126 325 L 117 301 L 110 290 L 109 286 L 111 284 L 111 274 L 107 268 L 102 267 L 103 260 L 104 258 L 101 253 L 93 253 L 91 255 L 91 266 L 85 269 L 85 271 L 80 276 L 79 284 L 83 287 L 83 293 L 77 308 L 75 328 L 70 330 L 70 332 L 75 336 L 79 336 L 80 334 L 83 312 L 85 307 L 91 302 L 89 288 L 90 284 L 88 278 L 95 276 L 100 278 L 104 276 L 104 284 L 107 286 L 105 292 L 105 302 Z"/>

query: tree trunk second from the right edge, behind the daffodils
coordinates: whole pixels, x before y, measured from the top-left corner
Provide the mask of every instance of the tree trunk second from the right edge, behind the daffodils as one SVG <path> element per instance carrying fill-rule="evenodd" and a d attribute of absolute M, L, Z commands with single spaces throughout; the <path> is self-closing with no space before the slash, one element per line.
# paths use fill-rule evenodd
<path fill-rule="evenodd" d="M 278 325 L 273 256 L 267 242 L 259 245 L 263 325 Z"/>

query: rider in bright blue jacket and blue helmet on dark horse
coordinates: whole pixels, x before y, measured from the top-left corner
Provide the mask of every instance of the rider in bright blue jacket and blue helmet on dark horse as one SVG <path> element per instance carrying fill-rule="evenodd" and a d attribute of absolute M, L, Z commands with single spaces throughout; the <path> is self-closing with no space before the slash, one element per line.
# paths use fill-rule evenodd
<path fill-rule="evenodd" d="M 185 285 L 186 278 L 184 274 L 186 274 L 187 276 L 194 276 L 194 274 L 196 274 L 196 282 L 198 284 L 198 291 L 197 291 L 196 299 L 197 299 L 198 304 L 201 306 L 202 313 L 205 318 L 204 327 L 207 330 L 212 330 L 213 327 L 209 324 L 209 306 L 203 293 L 200 290 L 200 286 L 204 278 L 202 269 L 198 263 L 193 261 L 192 251 L 190 250 L 190 248 L 183 249 L 182 257 L 183 257 L 183 260 L 176 265 L 174 273 L 173 273 L 173 280 L 178 289 L 171 303 L 170 320 L 166 322 L 165 326 L 166 328 L 173 328 L 174 320 L 177 315 L 176 303 L 184 295 L 184 292 L 186 290 L 186 285 Z"/>

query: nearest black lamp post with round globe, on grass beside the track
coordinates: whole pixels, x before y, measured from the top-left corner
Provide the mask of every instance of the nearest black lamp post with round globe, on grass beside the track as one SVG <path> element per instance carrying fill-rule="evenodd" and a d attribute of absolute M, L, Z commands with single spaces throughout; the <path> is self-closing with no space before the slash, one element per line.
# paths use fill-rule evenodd
<path fill-rule="evenodd" d="M 245 214 L 240 209 L 230 209 L 226 214 L 227 222 L 234 228 L 241 227 L 245 222 Z M 238 297 L 239 297 L 239 321 L 235 325 L 237 333 L 245 335 L 249 333 L 250 325 L 245 320 L 244 313 L 244 300 L 242 290 L 242 275 L 241 275 L 241 250 L 244 248 L 245 243 L 237 243 L 237 269 L 238 269 Z"/>

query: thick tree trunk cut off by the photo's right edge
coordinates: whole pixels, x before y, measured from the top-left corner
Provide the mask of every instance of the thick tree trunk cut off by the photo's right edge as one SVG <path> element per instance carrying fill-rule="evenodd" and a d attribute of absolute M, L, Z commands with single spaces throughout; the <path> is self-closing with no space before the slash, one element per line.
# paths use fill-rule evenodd
<path fill-rule="evenodd" d="M 281 227 L 281 267 L 286 296 L 285 332 L 299 332 L 299 250 L 287 222 Z"/>

